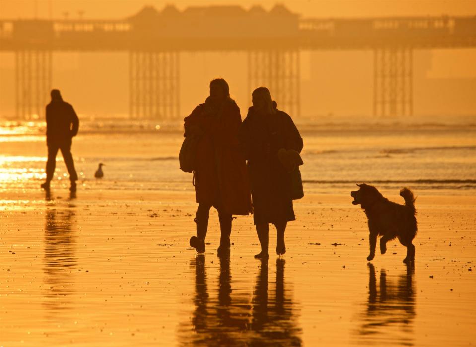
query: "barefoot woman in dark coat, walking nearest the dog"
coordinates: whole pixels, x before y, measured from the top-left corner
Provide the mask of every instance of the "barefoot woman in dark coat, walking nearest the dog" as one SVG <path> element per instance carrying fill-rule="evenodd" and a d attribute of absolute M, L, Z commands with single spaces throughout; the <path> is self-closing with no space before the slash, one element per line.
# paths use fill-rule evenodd
<path fill-rule="evenodd" d="M 291 198 L 291 177 L 278 159 L 280 149 L 301 152 L 303 142 L 291 117 L 276 108 L 270 91 L 257 88 L 253 106 L 240 128 L 242 151 L 248 160 L 253 197 L 253 216 L 261 252 L 256 258 L 268 257 L 269 223 L 277 231 L 276 253 L 286 252 L 284 231 L 295 220 Z"/>

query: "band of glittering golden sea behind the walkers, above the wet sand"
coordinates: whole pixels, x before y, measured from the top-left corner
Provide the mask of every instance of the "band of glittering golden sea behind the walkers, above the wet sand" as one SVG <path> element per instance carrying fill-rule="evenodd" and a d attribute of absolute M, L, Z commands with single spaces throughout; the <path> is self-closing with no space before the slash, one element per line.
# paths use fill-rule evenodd
<path fill-rule="evenodd" d="M 384 119 L 385 120 L 385 119 Z M 301 126 L 304 137 L 302 168 L 308 189 L 345 188 L 353 182 L 381 187 L 402 184 L 418 189 L 476 188 L 476 121 L 460 123 L 378 123 L 350 121 Z M 311 125 L 312 124 L 312 125 Z M 3 126 L 1 126 L 3 125 Z M 44 123 L 0 124 L 1 187 L 37 185 L 44 176 Z M 86 188 L 99 162 L 106 163 L 106 180 L 122 188 L 130 182 L 144 187 L 190 188 L 190 177 L 177 170 L 183 140 L 181 126 L 153 122 L 89 121 L 81 124 L 72 148 L 80 181 Z M 61 160 L 61 158 L 59 158 Z M 64 180 L 64 166 L 57 179 Z M 139 186 L 140 187 L 140 186 Z M 132 186 L 133 189 L 137 185 Z"/>

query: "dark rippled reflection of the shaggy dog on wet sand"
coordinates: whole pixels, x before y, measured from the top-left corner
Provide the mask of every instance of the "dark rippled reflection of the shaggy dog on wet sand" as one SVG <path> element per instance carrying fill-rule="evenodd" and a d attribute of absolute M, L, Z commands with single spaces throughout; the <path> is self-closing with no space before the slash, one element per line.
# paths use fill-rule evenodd
<path fill-rule="evenodd" d="M 397 277 L 396 283 L 387 279 L 387 272 L 380 270 L 379 288 L 372 264 L 369 268 L 369 297 L 367 310 L 359 334 L 383 343 L 412 344 L 413 320 L 416 316 L 416 289 L 414 268 Z M 403 333 L 403 334 L 402 334 Z"/>

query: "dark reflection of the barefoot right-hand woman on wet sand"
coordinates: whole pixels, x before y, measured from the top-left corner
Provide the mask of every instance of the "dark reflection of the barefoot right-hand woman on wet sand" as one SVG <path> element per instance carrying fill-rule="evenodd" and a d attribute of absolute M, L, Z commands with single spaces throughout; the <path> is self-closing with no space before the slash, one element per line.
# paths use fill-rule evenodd
<path fill-rule="evenodd" d="M 285 260 L 276 259 L 276 289 L 274 298 L 268 296 L 268 260 L 261 259 L 260 272 L 253 292 L 251 345 L 301 346 L 301 329 L 297 326 L 290 291 L 284 283 Z"/>

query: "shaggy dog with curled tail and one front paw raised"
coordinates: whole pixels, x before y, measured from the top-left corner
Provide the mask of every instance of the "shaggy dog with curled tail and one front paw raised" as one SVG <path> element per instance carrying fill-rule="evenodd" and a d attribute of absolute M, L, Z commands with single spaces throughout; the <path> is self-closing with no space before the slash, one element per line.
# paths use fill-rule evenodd
<path fill-rule="evenodd" d="M 397 237 L 401 244 L 407 247 L 407 257 L 404 263 L 410 264 L 415 261 L 415 246 L 411 243 L 415 238 L 416 231 L 416 209 L 415 198 L 408 188 L 400 190 L 400 196 L 405 199 L 405 205 L 399 205 L 389 201 L 379 193 L 377 188 L 363 184 L 357 184 L 359 190 L 350 192 L 354 198 L 352 204 L 360 205 L 367 215 L 369 224 L 370 254 L 367 260 L 372 260 L 375 256 L 375 246 L 377 236 L 380 239 L 380 253 L 387 251 L 387 241 Z"/>

